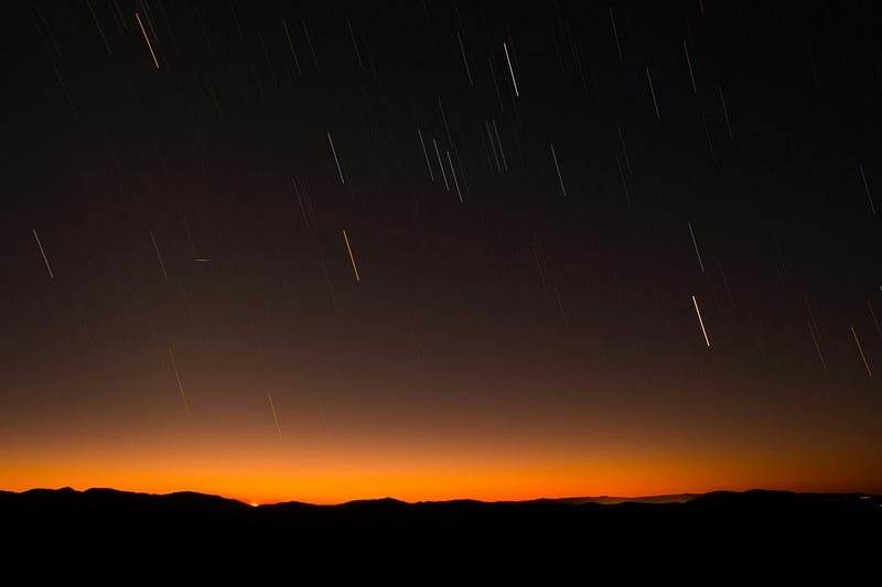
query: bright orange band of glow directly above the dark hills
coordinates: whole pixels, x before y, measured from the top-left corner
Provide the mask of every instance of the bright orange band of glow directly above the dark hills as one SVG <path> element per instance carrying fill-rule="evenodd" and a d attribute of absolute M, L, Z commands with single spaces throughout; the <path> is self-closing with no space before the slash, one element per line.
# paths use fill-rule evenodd
<path fill-rule="evenodd" d="M 462 455 L 461 455 L 462 457 Z M 504 460 L 504 459 L 501 459 Z M 703 493 L 713 490 L 783 489 L 818 492 L 873 492 L 868 479 L 849 475 L 847 464 L 782 463 L 776 458 L 730 458 L 725 470 L 710 457 L 568 459 L 537 466 L 515 461 L 491 466 L 482 459 L 440 459 L 415 465 L 413 458 L 370 464 L 343 458 L 288 459 L 273 464 L 245 456 L 224 460 L 183 455 L 176 460 L 120 460 L 62 457 L 57 461 L 20 463 L 3 468 L 4 490 L 72 487 L 112 488 L 165 494 L 196 491 L 248 504 L 300 501 L 336 504 L 361 499 L 395 498 L 407 502 L 475 499 L 520 501 L 539 498 L 622 497 Z M 820 471 L 820 472 L 818 472 Z M 829 479 L 837 479 L 830 482 Z M 879 489 L 879 483 L 874 486 Z"/>

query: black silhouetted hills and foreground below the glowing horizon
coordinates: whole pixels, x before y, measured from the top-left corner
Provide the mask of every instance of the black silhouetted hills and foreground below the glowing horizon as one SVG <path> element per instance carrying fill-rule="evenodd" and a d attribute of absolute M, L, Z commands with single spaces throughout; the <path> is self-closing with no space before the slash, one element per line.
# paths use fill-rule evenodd
<path fill-rule="evenodd" d="M 615 583 L 667 576 L 704 585 L 828 574 L 848 585 L 868 570 L 878 576 L 882 496 L 752 490 L 684 499 L 254 508 L 192 492 L 34 489 L 0 492 L 0 518 L 6 561 L 28 567 L 34 579 L 110 568 L 202 579 L 311 569 L 330 584 L 335 577 L 494 584 L 526 580 L 527 573 L 548 580 L 614 573 Z M 407 574 L 416 572 L 428 573 L 426 580 Z M 183 578 L 174 577 L 169 583 Z"/>

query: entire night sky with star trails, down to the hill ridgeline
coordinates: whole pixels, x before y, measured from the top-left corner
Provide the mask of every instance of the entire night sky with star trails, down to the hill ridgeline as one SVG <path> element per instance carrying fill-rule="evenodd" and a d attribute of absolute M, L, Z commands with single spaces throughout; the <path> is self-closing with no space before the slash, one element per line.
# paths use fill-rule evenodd
<path fill-rule="evenodd" d="M 7 8 L 0 489 L 882 493 L 871 4 Z"/>

